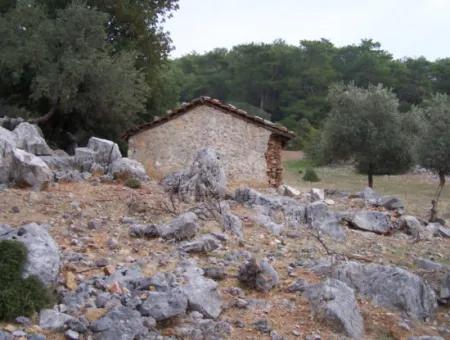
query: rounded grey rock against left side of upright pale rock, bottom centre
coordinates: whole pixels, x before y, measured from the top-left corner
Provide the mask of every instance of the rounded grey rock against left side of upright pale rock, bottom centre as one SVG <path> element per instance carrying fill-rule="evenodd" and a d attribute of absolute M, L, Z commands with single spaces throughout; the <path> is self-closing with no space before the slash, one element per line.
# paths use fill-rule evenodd
<path fill-rule="evenodd" d="M 156 321 L 162 321 L 185 314 L 187 306 L 188 299 L 185 293 L 179 288 L 174 288 L 167 292 L 150 292 L 147 300 L 140 306 L 140 312 Z"/>

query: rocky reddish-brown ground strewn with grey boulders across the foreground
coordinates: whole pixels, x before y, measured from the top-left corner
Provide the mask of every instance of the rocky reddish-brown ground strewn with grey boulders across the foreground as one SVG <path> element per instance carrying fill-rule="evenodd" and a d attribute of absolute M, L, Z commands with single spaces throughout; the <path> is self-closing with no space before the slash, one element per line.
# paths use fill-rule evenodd
<path fill-rule="evenodd" d="M 450 229 L 395 197 L 230 188 L 208 149 L 158 183 L 109 141 L 69 156 L 3 135 L 0 239 L 58 303 L 2 340 L 450 338 Z"/>

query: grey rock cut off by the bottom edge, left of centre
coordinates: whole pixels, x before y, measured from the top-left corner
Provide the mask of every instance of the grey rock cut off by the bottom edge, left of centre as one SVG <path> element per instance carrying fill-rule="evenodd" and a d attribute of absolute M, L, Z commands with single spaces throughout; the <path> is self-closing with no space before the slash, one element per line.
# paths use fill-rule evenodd
<path fill-rule="evenodd" d="M 102 321 L 103 319 L 110 321 Z M 145 338 L 148 329 L 143 324 L 143 318 L 138 311 L 117 306 L 110 310 L 103 318 L 97 320 L 97 323 L 104 323 L 101 331 L 97 331 L 95 339 L 97 340 L 124 340 Z M 106 324 L 109 325 L 105 328 Z M 94 327 L 94 329 L 99 329 Z"/>

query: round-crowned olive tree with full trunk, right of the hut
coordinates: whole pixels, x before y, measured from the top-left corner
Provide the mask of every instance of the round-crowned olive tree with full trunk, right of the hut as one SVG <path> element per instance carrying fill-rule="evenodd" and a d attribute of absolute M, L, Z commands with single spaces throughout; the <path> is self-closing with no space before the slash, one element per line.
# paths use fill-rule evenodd
<path fill-rule="evenodd" d="M 322 152 L 333 160 L 355 161 L 371 188 L 373 175 L 408 170 L 410 146 L 394 93 L 382 85 L 366 89 L 335 84 L 328 100 L 331 111 L 322 133 Z"/>

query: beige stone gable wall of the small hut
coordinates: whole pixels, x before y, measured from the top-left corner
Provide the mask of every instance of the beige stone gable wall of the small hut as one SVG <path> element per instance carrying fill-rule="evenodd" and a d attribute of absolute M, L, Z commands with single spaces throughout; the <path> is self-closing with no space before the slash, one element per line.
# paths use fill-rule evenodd
<path fill-rule="evenodd" d="M 210 147 L 222 155 L 231 185 L 267 185 L 266 152 L 271 134 L 267 129 L 203 105 L 130 137 L 128 157 L 143 163 L 151 177 L 162 178 L 188 167 L 197 150 Z M 276 159 L 274 153 L 270 152 L 270 159 Z"/>

